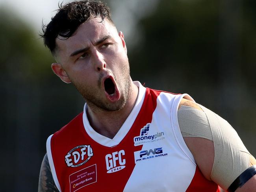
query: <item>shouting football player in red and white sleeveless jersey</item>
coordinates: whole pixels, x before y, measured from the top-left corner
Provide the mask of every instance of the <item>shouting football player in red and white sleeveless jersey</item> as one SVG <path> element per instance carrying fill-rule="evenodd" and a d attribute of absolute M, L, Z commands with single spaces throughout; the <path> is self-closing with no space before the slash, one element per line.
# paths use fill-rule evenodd
<path fill-rule="evenodd" d="M 132 81 L 106 5 L 61 6 L 43 37 L 52 70 L 86 103 L 48 138 L 40 192 L 256 190 L 256 161 L 225 120 L 187 94 Z"/>

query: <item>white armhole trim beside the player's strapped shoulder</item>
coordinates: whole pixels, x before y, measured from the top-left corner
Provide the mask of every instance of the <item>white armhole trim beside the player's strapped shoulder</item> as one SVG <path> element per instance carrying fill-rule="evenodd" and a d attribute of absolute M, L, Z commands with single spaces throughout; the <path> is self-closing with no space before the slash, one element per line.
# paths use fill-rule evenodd
<path fill-rule="evenodd" d="M 188 100 L 195 102 L 195 100 L 193 100 L 193 98 L 191 96 L 189 96 L 188 94 L 177 95 L 174 98 L 174 102 L 171 107 L 171 121 L 173 122 L 172 129 L 173 129 L 173 133 L 174 133 L 176 142 L 178 143 L 178 146 L 185 153 L 185 155 L 190 159 L 190 161 L 196 165 L 195 159 L 194 159 L 191 151 L 187 147 L 187 145 L 184 141 L 184 138 L 182 137 L 182 134 L 180 131 L 180 126 L 178 123 L 178 107 L 179 107 L 179 104 L 180 104 L 182 98 L 186 98 Z"/>

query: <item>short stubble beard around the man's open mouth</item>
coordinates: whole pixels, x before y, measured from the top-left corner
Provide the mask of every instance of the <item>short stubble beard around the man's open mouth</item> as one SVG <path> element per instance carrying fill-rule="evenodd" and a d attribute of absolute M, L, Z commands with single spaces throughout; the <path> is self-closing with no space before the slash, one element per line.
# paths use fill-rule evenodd
<path fill-rule="evenodd" d="M 115 74 L 112 74 L 121 93 L 120 99 L 115 103 L 109 103 L 105 100 L 102 100 L 100 96 L 101 92 L 101 81 L 102 76 L 99 77 L 97 83 L 97 89 L 93 86 L 84 87 L 73 82 L 73 85 L 76 87 L 78 92 L 83 96 L 85 102 L 89 107 L 94 110 L 100 111 L 120 111 L 126 105 L 131 94 L 131 80 L 130 80 L 130 67 L 129 63 L 125 65 L 126 67 L 122 69 L 120 78 L 117 78 Z"/>

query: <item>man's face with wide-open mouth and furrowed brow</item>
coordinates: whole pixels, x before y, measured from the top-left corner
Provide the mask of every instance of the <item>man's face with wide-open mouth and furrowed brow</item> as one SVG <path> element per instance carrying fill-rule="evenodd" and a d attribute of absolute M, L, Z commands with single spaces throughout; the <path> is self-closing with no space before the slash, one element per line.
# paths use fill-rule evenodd
<path fill-rule="evenodd" d="M 130 95 L 130 68 L 122 32 L 107 19 L 91 18 L 69 39 L 56 39 L 52 64 L 65 82 L 72 82 L 90 107 L 120 110 Z"/>

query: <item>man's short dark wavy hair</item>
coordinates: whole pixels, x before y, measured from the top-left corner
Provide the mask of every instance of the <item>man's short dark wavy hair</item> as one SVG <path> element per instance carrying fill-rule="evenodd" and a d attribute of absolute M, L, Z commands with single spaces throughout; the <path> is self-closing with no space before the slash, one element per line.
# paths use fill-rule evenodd
<path fill-rule="evenodd" d="M 48 25 L 42 26 L 43 34 L 40 36 L 44 38 L 45 46 L 47 46 L 52 54 L 56 49 L 55 39 L 59 36 L 68 39 L 73 35 L 77 28 L 91 16 L 100 17 L 103 22 L 106 17 L 112 24 L 113 21 L 110 16 L 109 7 L 103 2 L 84 0 L 74 1 L 64 6 L 62 3 L 59 9 Z"/>

